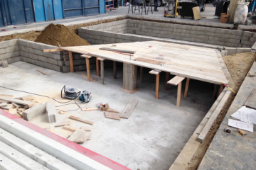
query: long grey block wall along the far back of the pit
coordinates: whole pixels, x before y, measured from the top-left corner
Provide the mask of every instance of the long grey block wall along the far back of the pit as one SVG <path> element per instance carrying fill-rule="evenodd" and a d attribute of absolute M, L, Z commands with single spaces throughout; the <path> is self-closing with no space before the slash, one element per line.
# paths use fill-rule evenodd
<path fill-rule="evenodd" d="M 252 47 L 256 33 L 203 26 L 127 20 L 127 33 L 227 47 Z"/>

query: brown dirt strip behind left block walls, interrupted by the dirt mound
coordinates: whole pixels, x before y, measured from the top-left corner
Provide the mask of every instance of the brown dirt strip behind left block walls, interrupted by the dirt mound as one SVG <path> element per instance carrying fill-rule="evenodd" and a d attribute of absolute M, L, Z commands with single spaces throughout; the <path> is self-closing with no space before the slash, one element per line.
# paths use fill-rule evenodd
<path fill-rule="evenodd" d="M 109 20 L 99 20 L 97 22 L 92 22 L 92 23 L 82 23 L 74 26 L 68 26 L 68 28 L 73 31 L 75 34 L 78 34 L 78 28 L 81 27 L 86 27 L 86 26 L 93 26 L 101 23 L 110 23 L 113 21 L 119 21 L 123 20 L 124 18 L 115 18 L 115 19 L 109 19 Z M 5 41 L 5 40 L 12 40 L 12 39 L 17 39 L 21 38 L 23 40 L 31 40 L 35 41 L 38 35 L 41 34 L 42 31 L 35 31 L 35 32 L 28 32 L 28 33 L 20 33 L 20 34 L 14 34 L 14 35 L 6 35 L 4 37 L 0 37 L 0 42 Z"/>

